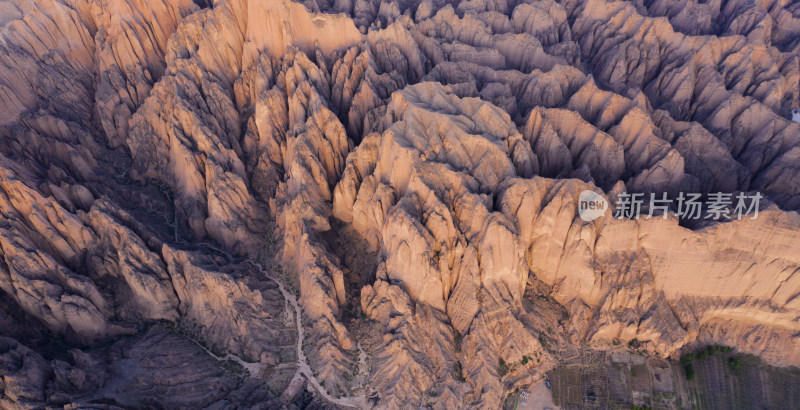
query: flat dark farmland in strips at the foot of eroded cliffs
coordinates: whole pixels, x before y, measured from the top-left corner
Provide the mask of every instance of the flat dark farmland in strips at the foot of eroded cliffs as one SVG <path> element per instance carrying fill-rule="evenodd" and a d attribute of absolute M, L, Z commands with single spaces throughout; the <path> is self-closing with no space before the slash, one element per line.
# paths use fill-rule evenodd
<path fill-rule="evenodd" d="M 692 380 L 676 360 L 627 351 L 581 356 L 548 374 L 562 408 L 800 409 L 800 369 L 768 366 L 754 356 L 700 355 L 692 361 Z"/>

